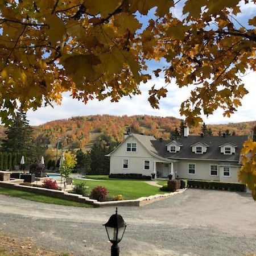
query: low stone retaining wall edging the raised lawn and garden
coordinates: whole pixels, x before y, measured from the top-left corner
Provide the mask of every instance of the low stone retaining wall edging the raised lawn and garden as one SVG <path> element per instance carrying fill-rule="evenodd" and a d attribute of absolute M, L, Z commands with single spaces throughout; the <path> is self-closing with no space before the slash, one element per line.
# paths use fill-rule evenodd
<path fill-rule="evenodd" d="M 10 183 L 8 181 L 0 181 L 0 187 L 14 188 L 14 189 L 18 189 L 20 191 L 26 191 L 26 192 L 34 192 L 40 195 L 52 196 L 52 197 L 72 200 L 80 203 L 92 204 L 97 207 L 110 207 L 110 206 L 111 207 L 112 206 L 141 207 L 143 205 L 151 204 L 151 203 L 154 203 L 155 201 L 163 200 L 163 199 L 166 199 L 167 197 L 177 195 L 186 190 L 186 188 L 184 188 L 184 189 L 179 189 L 178 191 L 172 192 L 172 193 L 165 193 L 165 194 L 153 195 L 148 197 L 140 197 L 139 199 L 135 199 L 135 200 L 99 202 L 97 200 L 90 199 L 89 197 L 86 197 L 86 196 L 68 193 L 67 191 L 58 191 L 58 190 L 47 189 L 47 188 L 24 186 L 24 185 Z"/>

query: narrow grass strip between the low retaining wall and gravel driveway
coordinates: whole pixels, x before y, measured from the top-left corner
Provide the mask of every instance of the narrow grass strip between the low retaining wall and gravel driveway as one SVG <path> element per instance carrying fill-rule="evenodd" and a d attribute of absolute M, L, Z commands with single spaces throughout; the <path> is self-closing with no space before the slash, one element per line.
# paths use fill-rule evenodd
<path fill-rule="evenodd" d="M 38 195 L 31 192 L 19 191 L 13 188 L 0 187 L 0 194 L 7 195 L 7 196 L 20 197 L 22 199 L 27 199 L 27 200 L 36 201 L 40 203 L 47 203 L 47 204 L 68 205 L 73 207 L 93 207 L 92 205 L 85 204 L 85 203 L 59 199 L 51 196 Z"/>

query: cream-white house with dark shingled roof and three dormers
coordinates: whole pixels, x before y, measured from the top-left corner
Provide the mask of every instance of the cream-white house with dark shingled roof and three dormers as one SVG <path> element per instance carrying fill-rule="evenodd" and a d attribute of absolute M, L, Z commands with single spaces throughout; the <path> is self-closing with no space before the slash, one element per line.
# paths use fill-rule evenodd
<path fill-rule="evenodd" d="M 168 174 L 179 179 L 238 182 L 240 151 L 247 136 L 193 136 L 163 141 L 130 133 L 110 156 L 110 174 Z"/>

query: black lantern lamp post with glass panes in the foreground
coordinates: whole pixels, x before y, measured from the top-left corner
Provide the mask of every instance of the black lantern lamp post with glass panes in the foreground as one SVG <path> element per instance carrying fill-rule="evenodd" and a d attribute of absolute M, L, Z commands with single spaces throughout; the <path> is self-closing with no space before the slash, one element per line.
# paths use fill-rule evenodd
<path fill-rule="evenodd" d="M 119 246 L 118 243 L 122 240 L 123 234 L 127 224 L 123 220 L 123 217 L 117 214 L 117 208 L 115 209 L 115 214 L 113 214 L 108 222 L 104 224 L 106 232 L 109 237 L 109 241 L 112 242 L 111 246 L 111 256 L 119 256 Z"/>

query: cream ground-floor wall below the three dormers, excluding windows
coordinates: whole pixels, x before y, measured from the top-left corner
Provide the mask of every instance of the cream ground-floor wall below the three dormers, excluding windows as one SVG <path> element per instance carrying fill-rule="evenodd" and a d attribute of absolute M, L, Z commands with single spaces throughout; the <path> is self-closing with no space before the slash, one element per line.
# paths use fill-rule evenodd
<path fill-rule="evenodd" d="M 195 164 L 195 174 L 188 174 L 188 164 Z M 223 176 L 224 167 L 219 165 L 219 161 L 202 161 L 202 160 L 179 160 L 174 164 L 174 171 L 177 171 L 179 179 L 195 179 L 195 180 L 216 180 L 222 182 L 238 182 L 237 172 L 239 167 L 230 167 L 230 176 Z M 218 166 L 218 175 L 210 175 L 210 164 Z"/>

